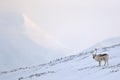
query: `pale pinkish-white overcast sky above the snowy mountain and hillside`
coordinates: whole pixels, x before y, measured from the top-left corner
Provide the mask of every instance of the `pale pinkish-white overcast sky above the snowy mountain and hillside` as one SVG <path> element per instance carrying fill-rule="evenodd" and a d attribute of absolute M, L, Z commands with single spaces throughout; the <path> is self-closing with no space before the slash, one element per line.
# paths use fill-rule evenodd
<path fill-rule="evenodd" d="M 0 13 L 9 12 L 25 14 L 53 36 L 49 43 L 55 39 L 73 51 L 120 36 L 120 0 L 0 0 Z"/>

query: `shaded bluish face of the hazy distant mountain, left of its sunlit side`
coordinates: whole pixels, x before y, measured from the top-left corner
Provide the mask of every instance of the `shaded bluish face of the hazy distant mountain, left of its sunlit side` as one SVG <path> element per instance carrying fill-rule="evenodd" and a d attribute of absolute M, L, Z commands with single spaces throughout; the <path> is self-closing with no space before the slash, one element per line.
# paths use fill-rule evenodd
<path fill-rule="evenodd" d="M 37 44 L 25 34 L 25 30 L 21 13 L 0 13 L 0 71 L 38 65 L 64 55 Z"/>

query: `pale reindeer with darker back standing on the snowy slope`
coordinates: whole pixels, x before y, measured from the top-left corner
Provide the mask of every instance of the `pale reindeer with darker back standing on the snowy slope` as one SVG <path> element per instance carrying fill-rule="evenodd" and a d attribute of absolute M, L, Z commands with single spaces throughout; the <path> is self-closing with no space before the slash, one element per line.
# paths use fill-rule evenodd
<path fill-rule="evenodd" d="M 106 65 L 106 63 L 107 65 L 109 65 L 108 64 L 109 55 L 108 54 L 97 54 L 97 49 L 95 49 L 95 51 L 96 53 L 93 54 L 93 59 L 99 62 L 99 66 L 101 66 L 101 61 L 105 62 L 104 66 Z"/>

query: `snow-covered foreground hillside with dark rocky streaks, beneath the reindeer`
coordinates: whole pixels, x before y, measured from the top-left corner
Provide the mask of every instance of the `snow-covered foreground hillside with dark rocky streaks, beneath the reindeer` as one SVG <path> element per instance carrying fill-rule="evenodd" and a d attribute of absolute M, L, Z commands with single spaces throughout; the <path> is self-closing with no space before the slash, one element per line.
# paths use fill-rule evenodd
<path fill-rule="evenodd" d="M 104 45 L 103 45 L 104 44 Z M 109 66 L 98 66 L 92 58 L 94 49 L 108 53 Z M 119 80 L 120 38 L 102 41 L 77 55 L 37 66 L 20 67 L 0 72 L 0 80 Z"/>

